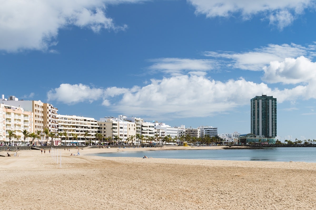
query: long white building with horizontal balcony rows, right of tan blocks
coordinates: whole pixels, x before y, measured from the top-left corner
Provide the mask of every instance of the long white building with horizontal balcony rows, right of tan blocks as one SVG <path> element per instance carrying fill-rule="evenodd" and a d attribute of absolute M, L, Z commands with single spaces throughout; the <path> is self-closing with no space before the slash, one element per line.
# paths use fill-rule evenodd
<path fill-rule="evenodd" d="M 91 117 L 76 115 L 56 115 L 58 122 L 58 141 L 62 144 L 85 144 L 95 142 L 95 133 L 98 132 L 98 122 Z"/>

